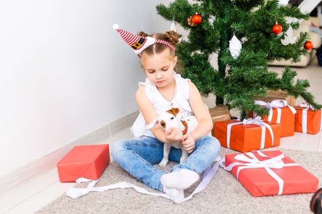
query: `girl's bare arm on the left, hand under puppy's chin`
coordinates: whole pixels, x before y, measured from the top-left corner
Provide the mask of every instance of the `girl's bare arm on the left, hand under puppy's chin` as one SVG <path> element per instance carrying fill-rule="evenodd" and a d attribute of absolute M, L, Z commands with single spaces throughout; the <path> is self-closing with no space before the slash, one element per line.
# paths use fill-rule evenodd
<path fill-rule="evenodd" d="M 145 86 L 141 86 L 136 91 L 135 100 L 147 124 L 150 124 L 155 118 L 158 117 L 151 101 L 146 94 Z M 167 132 L 165 132 L 161 126 L 158 126 L 153 127 L 151 131 L 157 140 L 167 144 L 178 142 L 183 137 L 180 129 L 169 129 Z"/>

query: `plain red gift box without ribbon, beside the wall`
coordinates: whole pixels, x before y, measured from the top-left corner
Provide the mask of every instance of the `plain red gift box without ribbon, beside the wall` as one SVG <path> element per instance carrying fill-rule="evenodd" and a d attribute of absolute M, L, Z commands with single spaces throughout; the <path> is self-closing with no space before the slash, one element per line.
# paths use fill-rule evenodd
<path fill-rule="evenodd" d="M 97 180 L 109 163 L 109 144 L 75 146 L 57 163 L 59 180 Z"/>

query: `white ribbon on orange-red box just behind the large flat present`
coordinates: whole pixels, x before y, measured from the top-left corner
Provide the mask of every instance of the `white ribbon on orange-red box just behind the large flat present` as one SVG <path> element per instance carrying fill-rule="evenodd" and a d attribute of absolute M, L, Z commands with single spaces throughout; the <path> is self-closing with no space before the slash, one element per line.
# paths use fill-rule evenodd
<path fill-rule="evenodd" d="M 227 125 L 227 148 L 230 148 L 230 132 L 231 132 L 231 126 L 237 125 L 237 124 L 255 124 L 258 126 L 261 126 L 262 128 L 262 135 L 261 135 L 261 142 L 260 142 L 260 149 L 263 149 L 265 146 L 265 135 L 266 135 L 266 129 L 269 129 L 272 137 L 272 146 L 274 144 L 274 133 L 272 130 L 272 127 L 264 123 L 263 121 L 260 120 L 260 116 L 257 116 L 255 119 L 244 119 L 242 122 L 237 122 L 237 123 L 230 123 Z"/>

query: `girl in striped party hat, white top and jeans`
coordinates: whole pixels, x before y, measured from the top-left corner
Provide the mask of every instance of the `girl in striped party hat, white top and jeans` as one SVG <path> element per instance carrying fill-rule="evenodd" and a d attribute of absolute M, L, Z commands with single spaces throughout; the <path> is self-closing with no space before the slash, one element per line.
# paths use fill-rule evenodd
<path fill-rule="evenodd" d="M 135 139 L 122 140 L 112 148 L 112 157 L 132 176 L 153 189 L 167 193 L 175 203 L 184 199 L 184 190 L 199 180 L 203 172 L 220 153 L 216 138 L 206 136 L 212 129 L 212 120 L 196 86 L 174 72 L 177 63 L 174 46 L 179 35 L 174 31 L 165 34 L 139 35 L 113 26 L 141 59 L 147 79 L 139 83 L 135 99 L 140 109 L 131 131 Z M 183 117 L 196 116 L 198 127 L 191 134 L 181 129 L 164 131 L 162 127 L 147 128 L 159 114 L 180 108 Z M 206 136 L 206 137 L 205 137 Z M 153 165 L 163 158 L 163 146 L 180 141 L 189 157 L 175 165 L 170 173 Z M 171 148 L 169 161 L 180 162 L 182 150 Z"/>

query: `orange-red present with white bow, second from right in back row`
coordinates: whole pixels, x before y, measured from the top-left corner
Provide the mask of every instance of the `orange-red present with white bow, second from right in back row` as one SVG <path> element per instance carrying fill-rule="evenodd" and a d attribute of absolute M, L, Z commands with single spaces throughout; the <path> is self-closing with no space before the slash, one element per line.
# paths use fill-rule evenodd
<path fill-rule="evenodd" d="M 296 110 L 286 100 L 274 100 L 271 103 L 256 100 L 255 104 L 270 109 L 270 115 L 263 117 L 263 120 L 282 124 L 281 138 L 294 135 Z"/>

